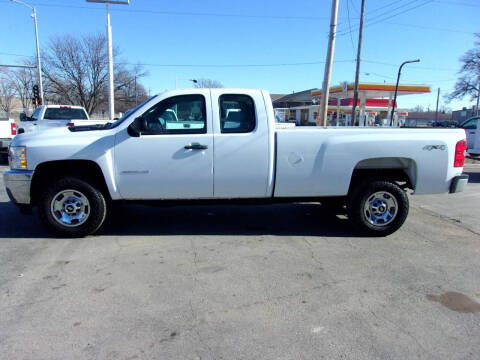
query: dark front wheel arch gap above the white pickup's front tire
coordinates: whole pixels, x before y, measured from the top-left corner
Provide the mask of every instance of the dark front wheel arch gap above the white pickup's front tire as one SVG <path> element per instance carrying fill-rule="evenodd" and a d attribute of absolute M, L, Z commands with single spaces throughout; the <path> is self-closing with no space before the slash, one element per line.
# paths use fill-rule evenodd
<path fill-rule="evenodd" d="M 38 164 L 33 173 L 30 197 L 37 205 L 44 184 L 62 176 L 78 177 L 95 185 L 106 199 L 111 200 L 105 176 L 101 167 L 92 160 L 55 160 Z"/>

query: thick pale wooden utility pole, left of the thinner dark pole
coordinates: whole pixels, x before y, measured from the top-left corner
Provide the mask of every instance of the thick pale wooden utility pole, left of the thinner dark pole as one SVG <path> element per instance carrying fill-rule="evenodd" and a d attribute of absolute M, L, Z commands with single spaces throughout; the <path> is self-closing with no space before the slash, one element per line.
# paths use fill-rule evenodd
<path fill-rule="evenodd" d="M 332 0 L 332 15 L 330 18 L 330 34 L 328 38 L 327 60 L 325 61 L 325 73 L 323 75 L 322 103 L 320 106 L 320 121 L 327 126 L 328 96 L 330 92 L 330 77 L 332 75 L 333 54 L 335 52 L 335 37 L 337 36 L 338 0 Z M 319 125 L 317 123 L 317 126 Z"/>

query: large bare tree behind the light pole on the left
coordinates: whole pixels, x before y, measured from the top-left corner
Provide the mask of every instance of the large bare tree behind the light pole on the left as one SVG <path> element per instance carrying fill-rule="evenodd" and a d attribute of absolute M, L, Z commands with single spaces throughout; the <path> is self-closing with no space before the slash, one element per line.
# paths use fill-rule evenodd
<path fill-rule="evenodd" d="M 104 35 L 54 37 L 43 58 L 47 100 L 81 105 L 89 113 L 106 104 L 108 55 Z M 118 61 L 117 49 L 114 49 L 114 64 L 115 86 L 119 87 L 130 71 Z M 137 82 L 143 76 L 139 74 Z"/>

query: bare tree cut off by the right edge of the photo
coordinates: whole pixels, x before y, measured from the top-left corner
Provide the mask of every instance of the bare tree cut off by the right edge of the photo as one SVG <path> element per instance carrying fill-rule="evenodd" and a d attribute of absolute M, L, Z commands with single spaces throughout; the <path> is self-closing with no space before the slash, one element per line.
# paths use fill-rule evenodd
<path fill-rule="evenodd" d="M 478 99 L 480 94 L 480 33 L 475 34 L 474 48 L 468 50 L 460 58 L 462 67 L 453 92 L 447 95 L 447 100 L 463 99 L 469 96 L 470 100 Z"/>

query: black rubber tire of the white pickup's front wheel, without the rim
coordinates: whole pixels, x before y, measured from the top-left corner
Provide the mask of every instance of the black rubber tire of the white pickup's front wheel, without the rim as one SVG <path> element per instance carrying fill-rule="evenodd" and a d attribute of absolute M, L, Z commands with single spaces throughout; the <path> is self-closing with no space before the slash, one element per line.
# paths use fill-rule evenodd
<path fill-rule="evenodd" d="M 64 190 L 73 190 L 88 199 L 88 216 L 78 225 L 66 226 L 61 224 L 51 210 L 52 202 L 58 194 Z M 105 221 L 107 215 L 107 203 L 102 192 L 87 181 L 76 177 L 63 177 L 41 190 L 39 196 L 38 211 L 40 219 L 55 234 L 62 237 L 84 237 L 97 231 Z"/>

